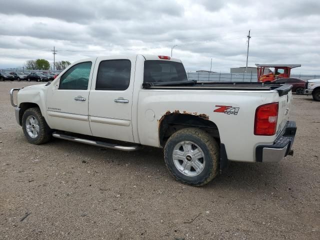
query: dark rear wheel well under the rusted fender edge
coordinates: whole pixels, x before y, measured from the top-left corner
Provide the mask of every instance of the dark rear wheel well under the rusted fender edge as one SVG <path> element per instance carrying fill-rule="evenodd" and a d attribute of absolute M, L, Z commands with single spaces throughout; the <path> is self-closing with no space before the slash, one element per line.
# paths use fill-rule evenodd
<path fill-rule="evenodd" d="M 167 112 L 158 121 L 159 124 L 159 141 L 164 146 L 167 139 L 177 130 L 186 127 L 198 127 L 208 132 L 211 136 L 220 142 L 219 131 L 216 124 L 208 119 L 205 114 L 189 113 L 169 113 Z"/>

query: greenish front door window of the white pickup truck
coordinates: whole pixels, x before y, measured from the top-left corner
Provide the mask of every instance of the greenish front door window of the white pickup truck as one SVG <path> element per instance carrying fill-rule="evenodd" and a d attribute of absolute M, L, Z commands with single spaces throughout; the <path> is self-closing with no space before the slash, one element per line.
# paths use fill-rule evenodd
<path fill-rule="evenodd" d="M 59 89 L 87 89 L 91 65 L 91 61 L 86 61 L 72 66 L 61 76 Z"/>

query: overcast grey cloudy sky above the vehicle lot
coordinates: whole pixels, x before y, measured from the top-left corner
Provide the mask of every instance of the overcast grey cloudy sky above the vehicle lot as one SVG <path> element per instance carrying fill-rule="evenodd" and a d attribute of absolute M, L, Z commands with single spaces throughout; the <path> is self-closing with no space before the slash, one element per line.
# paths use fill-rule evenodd
<path fill-rule="evenodd" d="M 320 74 L 320 0 L 1 0 L 0 68 L 28 59 L 151 53 L 187 71 L 302 64 Z"/>

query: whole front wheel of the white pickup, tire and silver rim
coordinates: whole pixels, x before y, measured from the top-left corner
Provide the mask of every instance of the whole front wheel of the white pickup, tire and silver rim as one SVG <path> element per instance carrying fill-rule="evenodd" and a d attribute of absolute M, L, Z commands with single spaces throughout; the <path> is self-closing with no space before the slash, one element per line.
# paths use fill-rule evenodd
<path fill-rule="evenodd" d="M 52 137 L 52 130 L 46 124 L 38 107 L 28 108 L 22 115 L 22 129 L 28 142 L 42 144 Z"/>

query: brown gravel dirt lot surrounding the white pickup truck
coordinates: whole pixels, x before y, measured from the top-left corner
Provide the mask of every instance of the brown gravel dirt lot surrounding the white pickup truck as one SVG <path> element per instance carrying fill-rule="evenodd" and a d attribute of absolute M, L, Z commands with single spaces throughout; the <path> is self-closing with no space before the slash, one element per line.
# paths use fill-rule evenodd
<path fill-rule="evenodd" d="M 320 102 L 294 95 L 294 156 L 176 182 L 162 150 L 26 142 L 0 82 L 0 239 L 320 239 Z M 24 219 L 22 219 L 26 216 Z"/>

